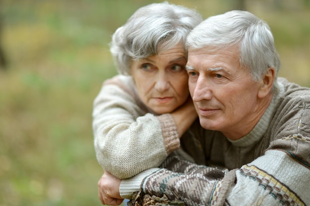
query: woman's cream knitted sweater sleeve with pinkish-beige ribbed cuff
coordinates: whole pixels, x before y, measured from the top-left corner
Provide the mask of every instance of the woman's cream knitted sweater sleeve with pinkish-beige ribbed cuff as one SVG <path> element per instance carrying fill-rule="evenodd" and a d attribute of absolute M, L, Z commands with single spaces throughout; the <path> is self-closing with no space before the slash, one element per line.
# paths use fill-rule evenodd
<path fill-rule="evenodd" d="M 146 113 L 126 82 L 113 81 L 94 101 L 94 146 L 99 164 L 125 179 L 159 166 L 180 142 L 171 115 Z"/>

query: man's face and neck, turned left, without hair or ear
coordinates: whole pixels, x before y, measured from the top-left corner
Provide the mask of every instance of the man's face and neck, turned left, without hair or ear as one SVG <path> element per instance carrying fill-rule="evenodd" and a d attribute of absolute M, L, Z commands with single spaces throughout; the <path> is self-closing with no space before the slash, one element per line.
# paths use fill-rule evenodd
<path fill-rule="evenodd" d="M 207 48 L 189 50 L 186 66 L 189 89 L 200 124 L 221 131 L 227 138 L 238 139 L 255 126 L 259 83 L 240 67 L 239 49 L 219 52 Z"/>

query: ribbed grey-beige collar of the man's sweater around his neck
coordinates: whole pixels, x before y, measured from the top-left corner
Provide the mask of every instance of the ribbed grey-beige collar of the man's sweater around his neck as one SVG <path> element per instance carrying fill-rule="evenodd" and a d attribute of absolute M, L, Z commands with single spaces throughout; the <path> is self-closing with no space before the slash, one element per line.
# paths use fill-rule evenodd
<path fill-rule="evenodd" d="M 279 103 L 280 97 L 284 94 L 284 85 L 281 82 L 277 82 L 274 86 L 274 93 L 272 100 L 264 112 L 261 119 L 258 121 L 256 126 L 244 137 L 237 140 L 228 139 L 233 145 L 238 147 L 247 147 L 255 142 L 259 141 L 262 136 L 266 133 L 270 121 L 272 119 L 274 110 L 276 109 L 277 104 Z"/>

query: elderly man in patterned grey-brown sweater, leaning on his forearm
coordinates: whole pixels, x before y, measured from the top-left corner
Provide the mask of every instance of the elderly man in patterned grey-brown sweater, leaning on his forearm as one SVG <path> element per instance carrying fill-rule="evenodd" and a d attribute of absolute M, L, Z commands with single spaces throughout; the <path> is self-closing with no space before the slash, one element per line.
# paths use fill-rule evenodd
<path fill-rule="evenodd" d="M 190 93 L 204 128 L 196 150 L 206 166 L 170 157 L 165 168 L 122 181 L 106 172 L 103 203 L 141 190 L 191 206 L 310 205 L 310 89 L 277 78 L 268 25 L 247 11 L 212 16 L 190 33 L 187 48 Z"/>

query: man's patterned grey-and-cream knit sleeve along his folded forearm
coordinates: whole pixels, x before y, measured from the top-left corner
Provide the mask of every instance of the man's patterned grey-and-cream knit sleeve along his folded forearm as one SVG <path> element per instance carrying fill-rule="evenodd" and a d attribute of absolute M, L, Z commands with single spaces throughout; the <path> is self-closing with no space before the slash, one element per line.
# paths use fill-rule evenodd
<path fill-rule="evenodd" d="M 123 190 L 124 184 L 136 184 L 135 188 L 146 194 L 165 194 L 191 206 L 310 204 L 309 166 L 277 150 L 266 151 L 254 162 L 229 172 L 212 167 L 197 167 L 187 173 L 158 168 L 144 177 L 122 181 L 121 196 L 130 198 L 130 192 Z"/>

